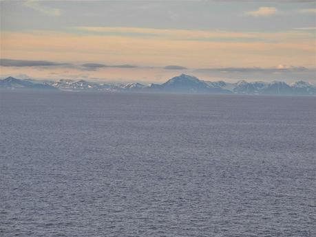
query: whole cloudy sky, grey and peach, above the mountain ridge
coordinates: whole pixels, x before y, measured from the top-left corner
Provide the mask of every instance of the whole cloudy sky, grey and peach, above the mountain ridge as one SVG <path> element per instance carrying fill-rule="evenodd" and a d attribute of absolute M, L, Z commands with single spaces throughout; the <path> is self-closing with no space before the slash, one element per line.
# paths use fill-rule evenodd
<path fill-rule="evenodd" d="M 1 1 L 0 77 L 306 80 L 316 1 Z"/>

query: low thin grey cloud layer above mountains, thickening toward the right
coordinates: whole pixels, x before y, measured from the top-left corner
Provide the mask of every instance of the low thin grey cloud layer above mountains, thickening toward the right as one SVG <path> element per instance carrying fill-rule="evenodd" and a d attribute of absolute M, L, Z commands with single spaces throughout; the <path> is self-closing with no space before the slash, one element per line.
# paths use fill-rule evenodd
<path fill-rule="evenodd" d="M 262 68 L 262 67 L 222 67 L 222 68 L 200 68 L 188 69 L 180 65 L 167 65 L 165 67 L 143 67 L 136 65 L 105 65 L 103 63 L 57 63 L 48 60 L 14 60 L 8 58 L 0 59 L 1 67 L 39 67 L 39 68 L 72 68 L 80 71 L 97 71 L 106 68 L 120 69 L 165 69 L 169 71 L 189 70 L 196 72 L 202 76 L 218 76 L 220 78 L 253 78 L 253 79 L 293 79 L 293 80 L 315 80 L 316 69 L 306 67 L 280 66 L 278 68 Z"/>

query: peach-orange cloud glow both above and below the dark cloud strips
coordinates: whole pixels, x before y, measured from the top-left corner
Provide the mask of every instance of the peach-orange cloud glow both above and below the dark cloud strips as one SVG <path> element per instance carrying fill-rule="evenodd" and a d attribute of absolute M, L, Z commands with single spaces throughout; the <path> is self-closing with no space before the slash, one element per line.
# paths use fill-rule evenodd
<path fill-rule="evenodd" d="M 162 69 L 166 65 L 188 69 L 277 65 L 315 67 L 315 37 L 313 32 L 303 30 L 262 33 L 88 27 L 81 31 L 85 33 L 3 32 L 1 58 L 48 60 L 73 65 L 136 65 L 140 68 L 105 67 L 83 71 L 78 67 L 0 67 L 1 75 L 159 81 L 179 73 Z M 95 31 L 106 34 L 87 34 Z"/>

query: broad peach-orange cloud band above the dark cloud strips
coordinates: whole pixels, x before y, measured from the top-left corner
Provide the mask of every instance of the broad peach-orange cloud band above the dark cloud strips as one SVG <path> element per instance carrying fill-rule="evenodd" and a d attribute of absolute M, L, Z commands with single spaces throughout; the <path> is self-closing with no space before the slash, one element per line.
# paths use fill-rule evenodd
<path fill-rule="evenodd" d="M 146 30 L 146 29 L 145 29 Z M 154 30 L 153 30 L 154 31 Z M 162 30 L 163 31 L 163 30 Z M 167 31 L 167 30 L 166 30 Z M 139 38 L 126 36 L 101 36 L 61 32 L 3 32 L 1 50 L 3 58 L 45 58 L 53 62 L 103 63 L 109 65 L 141 65 L 165 67 L 185 65 L 199 67 L 271 67 L 279 65 L 315 65 L 315 36 L 304 30 L 286 32 L 217 32 L 169 30 L 171 36 L 180 38 Z M 183 34 L 183 36 L 179 36 Z M 199 37 L 252 37 L 261 41 L 185 41 L 182 38 Z M 220 38 L 222 38 L 220 37 Z M 211 53 L 210 53 L 211 52 Z M 215 57 L 214 57 L 215 55 Z M 26 58 L 25 58 L 26 59 Z M 80 66 L 83 64 L 81 63 Z M 126 67 L 126 66 L 125 66 Z M 83 68 L 83 67 L 81 67 Z M 103 70 L 115 68 L 104 67 Z M 101 71 L 101 68 L 98 69 Z M 109 70 L 108 70 L 109 71 Z M 118 71 L 118 70 L 116 70 Z M 127 70 L 120 70 L 121 74 Z M 165 70 L 171 73 L 172 70 Z M 25 72 L 26 73 L 26 72 Z"/>

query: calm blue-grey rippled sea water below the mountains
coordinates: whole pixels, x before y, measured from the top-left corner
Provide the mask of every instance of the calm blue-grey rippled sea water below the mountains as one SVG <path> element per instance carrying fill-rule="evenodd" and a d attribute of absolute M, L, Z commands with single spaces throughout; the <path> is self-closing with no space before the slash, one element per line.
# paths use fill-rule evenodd
<path fill-rule="evenodd" d="M 0 236 L 316 234 L 316 98 L 0 99 Z"/>

